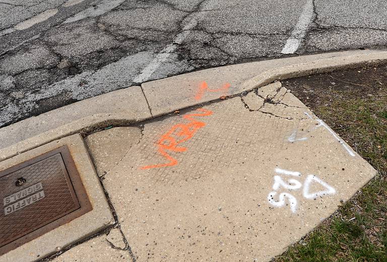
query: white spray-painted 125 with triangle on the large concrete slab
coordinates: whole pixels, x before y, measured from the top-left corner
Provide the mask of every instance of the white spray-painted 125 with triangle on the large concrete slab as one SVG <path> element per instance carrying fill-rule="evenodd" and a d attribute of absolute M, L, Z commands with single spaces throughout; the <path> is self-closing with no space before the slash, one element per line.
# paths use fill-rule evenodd
<path fill-rule="evenodd" d="M 274 170 L 277 174 L 283 174 L 283 175 L 289 175 L 289 176 L 301 176 L 300 172 L 297 171 L 289 171 L 281 168 L 276 168 Z M 324 186 L 326 189 L 317 191 L 317 192 L 310 192 L 310 184 L 316 182 L 320 185 Z M 275 196 L 277 194 L 277 190 L 281 187 L 288 189 L 288 190 L 298 190 L 301 187 L 302 188 L 302 195 L 305 199 L 315 199 L 317 197 L 322 197 L 324 195 L 328 194 L 334 194 L 336 193 L 335 188 L 327 184 L 326 182 L 322 181 L 315 175 L 308 175 L 306 179 L 304 180 L 303 185 L 300 181 L 296 179 L 288 179 L 287 181 L 284 181 L 281 176 L 275 175 L 274 176 L 274 184 L 273 184 L 273 190 L 268 195 L 268 201 L 269 203 L 277 208 L 283 207 L 286 204 L 290 206 L 290 210 L 293 213 L 296 213 L 297 211 L 297 199 L 292 195 L 291 193 L 282 192 L 278 196 L 278 200 L 275 200 Z M 287 199 L 287 200 L 286 200 Z"/>

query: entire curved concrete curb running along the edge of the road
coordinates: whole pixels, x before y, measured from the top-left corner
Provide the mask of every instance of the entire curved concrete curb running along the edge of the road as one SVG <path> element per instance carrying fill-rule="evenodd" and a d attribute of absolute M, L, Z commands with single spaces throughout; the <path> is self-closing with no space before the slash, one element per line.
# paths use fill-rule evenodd
<path fill-rule="evenodd" d="M 305 55 L 229 65 L 113 91 L 1 128 L 0 161 L 72 134 L 140 122 L 276 80 L 386 61 L 385 49 Z"/>

